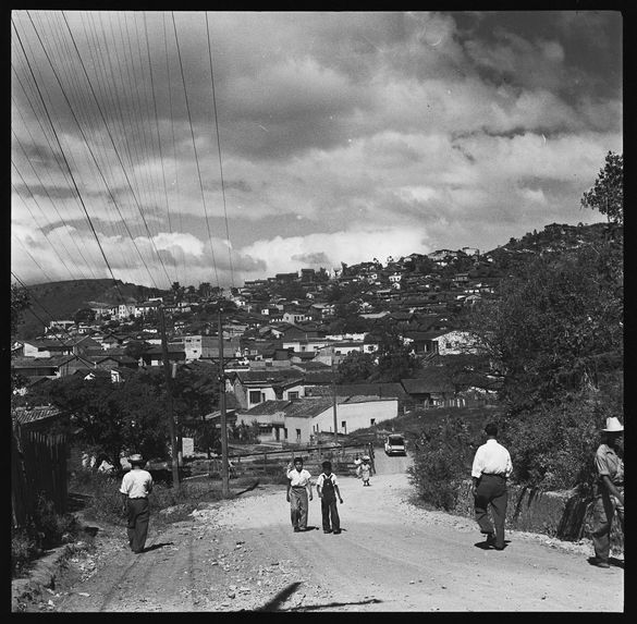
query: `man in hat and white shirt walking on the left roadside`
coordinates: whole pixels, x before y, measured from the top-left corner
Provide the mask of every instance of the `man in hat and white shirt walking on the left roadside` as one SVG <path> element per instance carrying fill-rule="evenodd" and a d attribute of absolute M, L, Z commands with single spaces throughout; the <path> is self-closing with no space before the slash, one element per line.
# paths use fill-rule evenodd
<path fill-rule="evenodd" d="M 148 494 L 152 491 L 152 477 L 142 466 L 146 463 L 135 453 L 128 457 L 131 469 L 124 475 L 120 492 L 122 504 L 128 514 L 128 545 L 135 553 L 144 552 L 148 535 Z"/>

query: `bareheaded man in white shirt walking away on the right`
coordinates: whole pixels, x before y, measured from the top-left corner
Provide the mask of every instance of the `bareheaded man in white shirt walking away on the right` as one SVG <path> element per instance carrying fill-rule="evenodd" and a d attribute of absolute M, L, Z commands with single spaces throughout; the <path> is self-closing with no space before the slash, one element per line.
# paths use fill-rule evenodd
<path fill-rule="evenodd" d="M 495 441 L 498 426 L 489 423 L 485 427 L 487 442 L 478 448 L 471 467 L 471 493 L 474 494 L 476 521 L 480 531 L 487 536 L 487 546 L 504 550 L 504 519 L 506 518 L 506 479 L 513 472 L 509 451 Z M 493 525 L 487 513 L 491 506 Z"/>

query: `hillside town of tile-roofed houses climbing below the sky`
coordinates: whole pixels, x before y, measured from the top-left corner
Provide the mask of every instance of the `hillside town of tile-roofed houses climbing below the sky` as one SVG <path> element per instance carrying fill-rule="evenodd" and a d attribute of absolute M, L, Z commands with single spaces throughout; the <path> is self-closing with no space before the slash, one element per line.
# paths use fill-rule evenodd
<path fill-rule="evenodd" d="M 394 418 L 405 407 L 483 404 L 495 388 L 454 383 L 443 374 L 454 357 L 480 353 L 462 325 L 463 310 L 497 296 L 513 260 L 577 247 L 591 228 L 547 225 L 539 247 L 536 233 L 486 254 L 465 247 L 384 262 L 373 258 L 331 272 L 301 269 L 247 281 L 228 294 L 210 284 L 174 283 L 147 301 L 91 302 L 73 319 L 50 321 L 40 337 L 13 345 L 14 370 L 25 380 L 17 392 L 28 395 L 48 379 L 90 379 L 97 370 L 121 382 L 134 370 L 162 367 L 161 307 L 170 365 L 213 379 L 221 359 L 230 423 L 256 421 L 262 443 L 306 444 L 333 435 L 334 403 L 336 432 L 343 436 Z M 420 364 L 414 377 L 336 388 L 343 359 L 378 352 L 390 327 Z M 50 417 L 51 411 L 42 414 Z M 23 417 L 37 418 L 33 411 Z M 208 417 L 219 419 L 219 413 L 211 409 Z"/>

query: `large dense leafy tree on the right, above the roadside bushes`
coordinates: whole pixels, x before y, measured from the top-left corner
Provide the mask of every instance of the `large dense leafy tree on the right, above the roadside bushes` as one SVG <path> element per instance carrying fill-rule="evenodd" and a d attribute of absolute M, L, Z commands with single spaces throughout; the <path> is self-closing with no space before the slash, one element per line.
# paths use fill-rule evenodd
<path fill-rule="evenodd" d="M 514 411 L 597 384 L 604 354 L 622 353 L 622 266 L 614 242 L 539 257 L 502 282 L 499 298 L 475 306 L 470 329 L 490 350 Z"/>

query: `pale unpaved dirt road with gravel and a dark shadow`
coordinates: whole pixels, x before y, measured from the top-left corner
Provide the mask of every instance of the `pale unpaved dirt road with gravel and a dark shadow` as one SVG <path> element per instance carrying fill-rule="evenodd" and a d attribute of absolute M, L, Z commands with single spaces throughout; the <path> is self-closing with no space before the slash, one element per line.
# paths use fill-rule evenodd
<path fill-rule="evenodd" d="M 210 504 L 150 535 L 133 554 L 121 535 L 85 579 L 51 592 L 76 611 L 600 611 L 624 609 L 624 571 L 587 563 L 590 545 L 510 531 L 482 550 L 468 518 L 407 502 L 407 460 L 377 454 L 371 487 L 341 478 L 343 533 L 323 534 L 320 502 L 293 533 L 285 488 Z M 110 539 L 110 541 L 109 541 Z M 108 550 L 108 549 L 107 549 Z M 83 563 L 81 559 L 76 566 Z"/>

